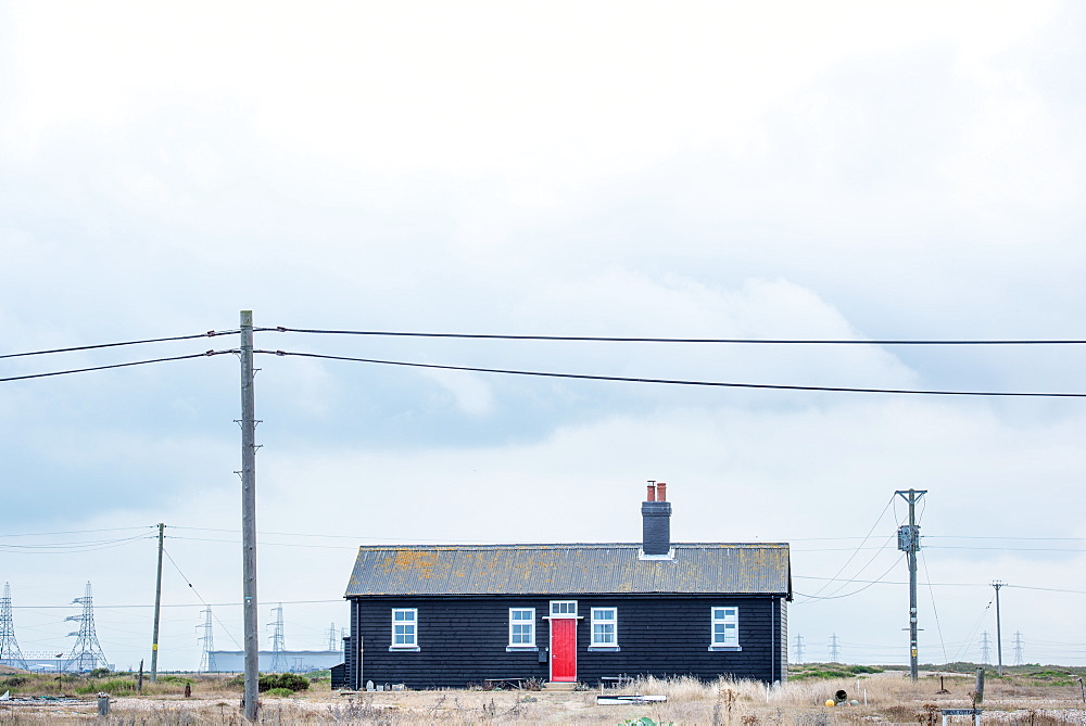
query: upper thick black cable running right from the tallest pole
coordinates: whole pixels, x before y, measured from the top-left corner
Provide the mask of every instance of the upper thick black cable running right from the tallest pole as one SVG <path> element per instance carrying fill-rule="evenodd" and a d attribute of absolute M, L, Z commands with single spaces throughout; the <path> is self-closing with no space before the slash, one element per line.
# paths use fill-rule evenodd
<path fill-rule="evenodd" d="M 766 337 L 619 337 L 614 335 L 505 335 L 489 333 L 420 333 L 390 330 L 321 330 L 315 328 L 254 328 L 257 332 L 372 335 L 390 337 L 457 337 L 498 341 L 582 341 L 601 343 L 729 343 L 754 345 L 1086 345 L 1086 340 L 816 340 Z"/>

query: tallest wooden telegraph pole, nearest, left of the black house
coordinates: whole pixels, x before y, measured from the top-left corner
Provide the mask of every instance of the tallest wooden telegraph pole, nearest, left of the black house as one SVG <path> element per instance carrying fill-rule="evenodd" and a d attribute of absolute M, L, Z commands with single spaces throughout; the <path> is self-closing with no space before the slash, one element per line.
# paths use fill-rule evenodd
<path fill-rule="evenodd" d="M 253 311 L 241 311 L 241 549 L 245 631 L 245 719 L 260 706 L 256 632 L 256 405 L 253 392 Z"/>

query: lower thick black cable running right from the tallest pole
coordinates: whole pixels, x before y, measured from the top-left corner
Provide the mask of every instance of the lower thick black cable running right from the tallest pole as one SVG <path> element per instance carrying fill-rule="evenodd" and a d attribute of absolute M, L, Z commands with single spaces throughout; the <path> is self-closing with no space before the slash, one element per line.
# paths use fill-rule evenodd
<path fill-rule="evenodd" d="M 439 370 L 458 370 L 473 373 L 504 373 L 507 375 L 535 375 L 541 378 L 564 378 L 582 381 L 619 381 L 624 383 L 662 383 L 667 385 L 711 386 L 721 389 L 759 389 L 770 391 L 823 391 L 831 393 L 894 393 L 926 396 L 1016 396 L 1032 398 L 1086 398 L 1086 393 L 1034 393 L 1011 391 L 923 391 L 913 389 L 859 389 L 831 385 L 783 385 L 770 383 L 725 383 L 721 381 L 689 381 L 664 378 L 628 378 L 622 375 L 589 375 L 586 373 L 555 373 L 548 371 L 515 370 L 506 368 L 477 368 L 473 366 L 443 366 L 439 364 L 421 364 L 405 360 L 379 360 L 375 358 L 354 358 L 351 356 L 332 356 L 319 353 L 296 353 L 291 351 L 253 351 L 275 356 L 294 356 L 301 358 L 320 358 L 324 360 L 344 360 L 351 362 L 375 364 L 379 366 L 402 366 L 406 368 L 430 368 Z M 2 381 L 3 379 L 0 379 Z"/>

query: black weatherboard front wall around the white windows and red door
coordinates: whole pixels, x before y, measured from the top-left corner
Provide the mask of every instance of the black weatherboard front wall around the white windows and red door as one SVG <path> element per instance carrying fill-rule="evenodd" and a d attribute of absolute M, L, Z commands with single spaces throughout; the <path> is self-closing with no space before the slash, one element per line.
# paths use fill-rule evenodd
<path fill-rule="evenodd" d="M 361 683 L 352 636 L 346 659 L 350 684 L 406 684 L 409 688 L 463 688 L 487 678 L 550 677 L 539 662 L 548 645 L 546 596 L 352 598 L 352 633 L 365 644 Z M 773 596 L 564 595 L 576 599 L 583 617 L 577 625 L 577 679 L 596 685 L 602 677 L 624 675 L 720 676 L 763 682 L 786 673 L 786 611 Z M 742 651 L 710 651 L 710 608 L 740 608 Z M 619 651 L 590 651 L 591 609 L 618 609 Z M 394 608 L 418 610 L 416 651 L 390 651 Z M 509 608 L 535 609 L 539 651 L 507 652 Z"/>

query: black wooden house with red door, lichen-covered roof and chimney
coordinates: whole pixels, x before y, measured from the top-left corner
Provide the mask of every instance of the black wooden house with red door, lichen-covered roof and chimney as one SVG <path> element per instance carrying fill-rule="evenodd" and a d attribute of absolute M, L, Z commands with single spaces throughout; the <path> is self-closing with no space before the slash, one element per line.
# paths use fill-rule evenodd
<path fill-rule="evenodd" d="M 787 544 L 672 544 L 664 484 L 643 542 L 363 546 L 338 685 L 787 674 Z"/>

